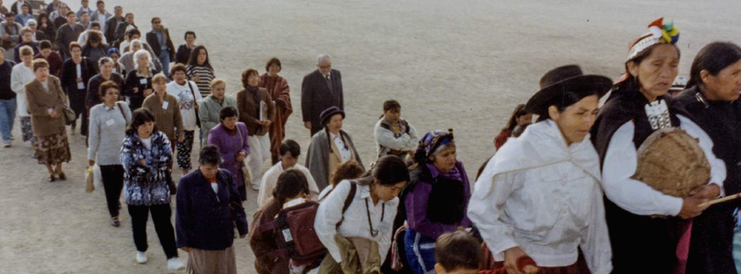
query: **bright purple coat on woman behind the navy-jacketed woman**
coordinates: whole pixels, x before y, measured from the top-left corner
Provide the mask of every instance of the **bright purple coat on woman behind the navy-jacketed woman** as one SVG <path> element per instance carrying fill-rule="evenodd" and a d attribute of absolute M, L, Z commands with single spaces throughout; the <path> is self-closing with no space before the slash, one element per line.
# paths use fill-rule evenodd
<path fill-rule="evenodd" d="M 244 162 L 237 162 L 235 155 L 239 151 L 245 151 L 245 155 L 249 155 L 250 145 L 247 143 L 247 126 L 245 126 L 245 123 L 237 122 L 236 127 L 239 131 L 234 135 L 230 135 L 224 125 L 219 123 L 219 125 L 208 131 L 208 144 L 219 147 L 222 151 L 222 158 L 224 158 L 221 168 L 230 171 L 234 175 L 236 185 L 242 186 L 245 185 L 245 177 L 242 174 L 242 165 L 244 165 Z"/>

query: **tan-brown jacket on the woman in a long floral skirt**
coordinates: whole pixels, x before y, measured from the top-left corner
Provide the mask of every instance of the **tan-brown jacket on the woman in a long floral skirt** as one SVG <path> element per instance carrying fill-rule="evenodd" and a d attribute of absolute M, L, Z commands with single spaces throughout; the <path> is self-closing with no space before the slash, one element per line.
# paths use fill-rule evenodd
<path fill-rule="evenodd" d="M 26 84 L 28 112 L 31 113 L 33 135 L 36 135 L 36 137 L 59 134 L 64 131 L 64 114 L 62 111 L 64 105 L 67 104 L 67 98 L 64 97 L 59 78 L 49 75 L 47 82 L 49 83 L 48 91 L 36 79 Z M 49 109 L 56 111 L 59 117 L 50 117 Z"/>

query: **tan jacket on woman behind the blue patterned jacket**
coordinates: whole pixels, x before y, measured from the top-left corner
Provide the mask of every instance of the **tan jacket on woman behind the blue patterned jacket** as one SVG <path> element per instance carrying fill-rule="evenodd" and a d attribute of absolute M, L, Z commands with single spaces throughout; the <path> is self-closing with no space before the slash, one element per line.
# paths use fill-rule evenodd
<path fill-rule="evenodd" d="M 149 109 L 154 114 L 154 120 L 159 131 L 165 132 L 167 139 L 177 140 L 180 137 L 185 136 L 185 129 L 183 129 L 183 119 L 180 116 L 180 105 L 178 99 L 165 93 L 165 102 L 167 102 L 167 108 L 163 109 L 164 102 L 160 102 L 159 97 L 156 93 L 152 93 L 144 99 L 142 108 Z M 177 136 L 175 136 L 175 128 L 177 128 Z"/>

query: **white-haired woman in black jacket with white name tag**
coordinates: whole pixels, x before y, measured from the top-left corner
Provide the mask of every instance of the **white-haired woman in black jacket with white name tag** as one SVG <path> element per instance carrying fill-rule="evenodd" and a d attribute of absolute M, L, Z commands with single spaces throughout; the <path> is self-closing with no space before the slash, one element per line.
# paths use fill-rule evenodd
<path fill-rule="evenodd" d="M 152 56 L 146 49 L 139 49 L 133 54 L 134 68 L 126 76 L 124 95 L 129 98 L 129 107 L 139 109 L 144 97 L 152 94 L 152 77 L 159 73 L 152 66 Z"/>

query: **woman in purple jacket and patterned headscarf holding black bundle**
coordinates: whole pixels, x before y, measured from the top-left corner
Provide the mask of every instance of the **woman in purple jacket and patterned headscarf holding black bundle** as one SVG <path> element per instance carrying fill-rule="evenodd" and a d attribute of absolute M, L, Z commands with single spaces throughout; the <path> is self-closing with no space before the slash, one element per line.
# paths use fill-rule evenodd
<path fill-rule="evenodd" d="M 465 215 L 471 185 L 463 163 L 456 160 L 453 130 L 430 131 L 419 140 L 405 190 L 407 232 L 404 246 L 413 273 L 435 266 L 435 241 L 458 227 L 470 227 Z"/>

